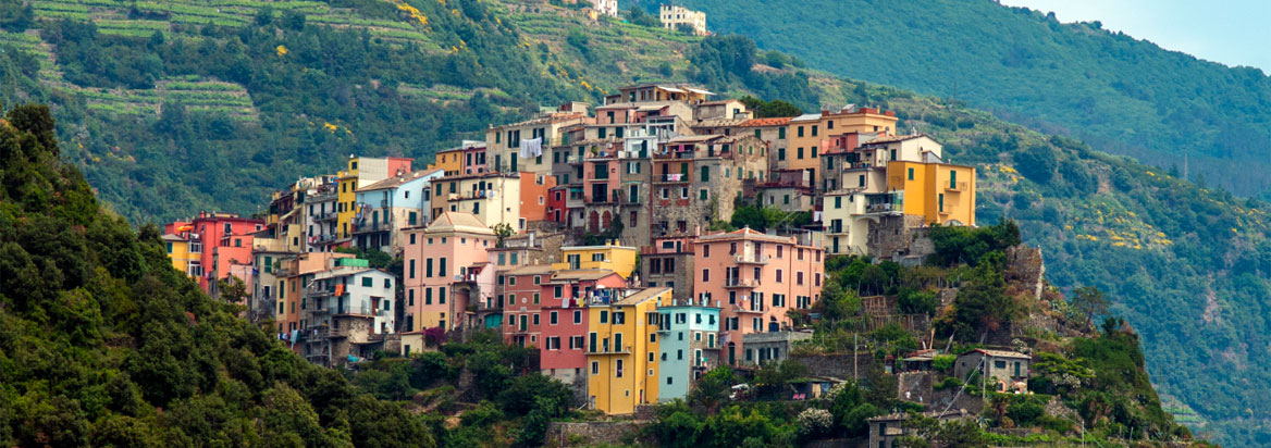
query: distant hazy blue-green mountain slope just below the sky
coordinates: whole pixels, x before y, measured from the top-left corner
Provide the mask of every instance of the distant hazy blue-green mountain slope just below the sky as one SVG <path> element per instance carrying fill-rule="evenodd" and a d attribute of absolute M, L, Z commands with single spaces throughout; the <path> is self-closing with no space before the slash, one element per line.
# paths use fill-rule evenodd
<path fill-rule="evenodd" d="M 651 1 L 639 1 L 651 6 Z M 1271 198 L 1271 79 L 991 0 L 677 1 L 817 69 L 957 98 Z M 775 8 L 779 4 L 780 8 Z M 656 6 L 655 6 L 656 8 Z"/>

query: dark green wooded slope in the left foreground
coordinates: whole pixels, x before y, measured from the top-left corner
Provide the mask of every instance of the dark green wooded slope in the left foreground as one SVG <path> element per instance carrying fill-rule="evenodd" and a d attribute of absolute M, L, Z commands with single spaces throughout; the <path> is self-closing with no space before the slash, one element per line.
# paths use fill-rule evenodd
<path fill-rule="evenodd" d="M 60 156 L 46 107 L 0 121 L 0 444 L 437 445 L 203 294 Z"/>

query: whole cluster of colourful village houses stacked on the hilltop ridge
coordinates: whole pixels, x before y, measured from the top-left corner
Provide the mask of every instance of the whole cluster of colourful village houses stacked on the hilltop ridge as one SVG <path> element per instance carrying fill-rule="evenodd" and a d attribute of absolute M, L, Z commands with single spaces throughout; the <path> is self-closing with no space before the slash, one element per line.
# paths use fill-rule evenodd
<path fill-rule="evenodd" d="M 974 230 L 976 169 L 896 129 L 894 113 L 756 118 L 713 96 L 630 85 L 600 105 L 492 124 L 484 141 L 425 164 L 351 156 L 275 193 L 267 216 L 200 213 L 163 239 L 177 269 L 243 301 L 315 364 L 356 369 L 494 331 L 530 348 L 534 368 L 569 385 L 578 407 L 637 419 L 686 400 L 718 367 L 756 378 L 797 364 L 783 387 L 755 385 L 815 400 L 886 376 L 910 410 L 961 420 L 986 410 L 975 391 L 1035 396 L 1035 366 L 1055 360 L 1028 340 L 1092 331 L 1064 312 L 1041 253 L 1019 245 L 1013 225 Z M 760 218 L 742 222 L 747 213 Z M 957 237 L 1005 254 L 995 263 L 1027 319 L 1003 311 L 960 338 L 977 343 L 955 346 L 935 334 L 946 325 L 962 336 L 956 321 L 937 321 L 960 284 L 923 269 L 984 255 Z M 859 278 L 878 267 L 890 274 Z M 822 303 L 827 270 L 843 269 L 858 272 L 850 315 Z M 738 400 L 758 391 L 738 387 Z M 869 419 L 869 445 L 911 434 L 906 419 Z"/>

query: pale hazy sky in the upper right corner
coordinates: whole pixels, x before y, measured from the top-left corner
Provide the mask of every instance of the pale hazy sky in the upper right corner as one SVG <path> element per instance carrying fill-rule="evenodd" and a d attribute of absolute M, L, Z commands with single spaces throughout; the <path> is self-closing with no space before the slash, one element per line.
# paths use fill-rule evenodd
<path fill-rule="evenodd" d="M 1060 22 L 1103 23 L 1229 66 L 1271 74 L 1271 0 L 999 0 L 1004 5 L 1054 11 Z"/>

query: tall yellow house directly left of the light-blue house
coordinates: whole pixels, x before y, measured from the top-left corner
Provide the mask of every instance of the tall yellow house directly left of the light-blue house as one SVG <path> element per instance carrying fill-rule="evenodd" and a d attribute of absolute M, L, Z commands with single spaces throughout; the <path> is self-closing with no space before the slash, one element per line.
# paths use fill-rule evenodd
<path fill-rule="evenodd" d="M 605 414 L 633 414 L 657 402 L 657 303 L 671 288 L 600 289 L 587 300 L 587 405 Z"/>

